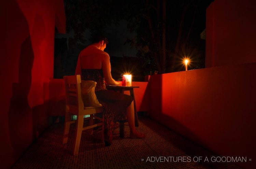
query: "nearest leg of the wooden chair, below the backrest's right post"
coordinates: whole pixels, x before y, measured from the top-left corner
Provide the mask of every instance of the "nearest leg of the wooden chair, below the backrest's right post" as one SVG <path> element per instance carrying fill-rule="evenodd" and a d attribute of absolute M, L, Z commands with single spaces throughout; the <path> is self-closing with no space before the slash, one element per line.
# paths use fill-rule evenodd
<path fill-rule="evenodd" d="M 84 124 L 84 116 L 77 115 L 73 155 L 78 154 L 78 151 L 79 151 L 80 140 L 81 140 L 81 135 L 83 131 L 83 124 Z"/>

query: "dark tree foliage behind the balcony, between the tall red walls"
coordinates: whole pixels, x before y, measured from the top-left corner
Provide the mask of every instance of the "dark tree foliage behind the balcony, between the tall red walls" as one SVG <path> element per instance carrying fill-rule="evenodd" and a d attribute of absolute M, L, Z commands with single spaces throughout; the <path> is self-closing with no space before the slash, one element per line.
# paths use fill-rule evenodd
<path fill-rule="evenodd" d="M 212 0 L 65 0 L 67 31 L 83 42 L 83 32 L 103 32 L 119 20 L 136 37 L 127 39 L 148 71 L 159 73 L 183 70 L 189 57 L 190 69 L 204 67 L 205 10 Z"/>

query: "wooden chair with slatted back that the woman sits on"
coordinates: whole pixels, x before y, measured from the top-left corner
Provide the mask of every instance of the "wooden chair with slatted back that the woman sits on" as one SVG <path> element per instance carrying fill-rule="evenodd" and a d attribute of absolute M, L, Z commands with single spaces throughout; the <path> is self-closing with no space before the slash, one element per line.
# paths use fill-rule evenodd
<path fill-rule="evenodd" d="M 102 107 L 84 107 L 82 98 L 82 85 L 80 75 L 64 76 L 66 87 L 66 117 L 63 133 L 63 144 L 68 141 L 69 128 L 71 123 L 76 122 L 75 141 L 73 146 L 73 155 L 79 152 L 82 131 L 90 129 L 92 134 L 93 128 L 102 125 L 102 142 L 104 142 L 104 116 L 99 118 L 94 116 L 96 113 L 103 112 Z M 71 121 L 71 115 L 77 115 L 77 120 Z M 84 118 L 84 115 L 90 115 Z M 89 119 L 89 126 L 83 127 L 84 119 Z M 94 119 L 100 120 L 100 123 L 94 124 Z"/>

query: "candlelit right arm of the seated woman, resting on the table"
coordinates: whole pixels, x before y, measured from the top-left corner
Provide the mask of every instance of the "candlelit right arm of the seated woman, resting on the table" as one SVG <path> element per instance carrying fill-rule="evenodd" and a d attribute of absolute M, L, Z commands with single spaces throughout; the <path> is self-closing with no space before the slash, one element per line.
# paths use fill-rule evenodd
<path fill-rule="evenodd" d="M 111 76 L 111 66 L 110 66 L 110 57 L 109 56 L 106 56 L 106 57 L 103 58 L 102 71 L 103 71 L 105 81 L 109 85 L 115 85 L 115 86 L 120 85 L 120 83 L 116 82 Z"/>

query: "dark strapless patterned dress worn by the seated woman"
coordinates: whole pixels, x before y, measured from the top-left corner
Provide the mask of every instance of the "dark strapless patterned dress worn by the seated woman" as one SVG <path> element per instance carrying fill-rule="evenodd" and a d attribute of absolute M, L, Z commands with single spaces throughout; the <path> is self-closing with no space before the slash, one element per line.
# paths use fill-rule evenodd
<path fill-rule="evenodd" d="M 112 143 L 114 124 L 117 120 L 125 119 L 126 108 L 133 98 L 106 89 L 102 69 L 82 69 L 82 80 L 95 81 L 95 94 L 103 106 L 104 115 L 104 142 L 106 146 Z"/>

